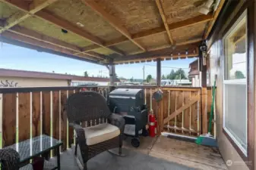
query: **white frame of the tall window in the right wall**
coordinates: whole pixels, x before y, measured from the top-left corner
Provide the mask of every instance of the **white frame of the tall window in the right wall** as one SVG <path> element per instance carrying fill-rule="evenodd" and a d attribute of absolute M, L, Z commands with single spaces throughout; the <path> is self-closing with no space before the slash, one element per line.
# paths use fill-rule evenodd
<path fill-rule="evenodd" d="M 244 153 L 245 156 L 248 156 L 248 87 L 247 87 L 247 79 L 248 79 L 248 74 L 246 74 L 245 79 L 229 79 L 226 80 L 226 50 L 225 50 L 225 45 L 226 45 L 226 38 L 233 32 L 235 29 L 235 26 L 237 26 L 242 19 L 245 17 L 245 24 L 247 28 L 247 22 L 248 22 L 248 16 L 247 16 L 247 10 L 243 12 L 243 14 L 239 17 L 238 20 L 235 21 L 235 23 L 232 25 L 232 27 L 229 29 L 228 32 L 226 32 L 226 35 L 223 37 L 223 51 L 224 51 L 224 58 L 222 60 L 223 63 L 223 129 L 226 131 L 226 133 L 229 135 L 230 138 L 232 138 L 232 141 L 235 142 L 235 144 L 239 147 L 239 149 Z M 247 51 L 247 39 L 248 39 L 248 31 L 246 29 L 246 41 L 245 41 L 245 48 L 246 48 L 246 55 L 248 54 Z M 247 65 L 248 58 L 246 57 L 246 68 L 248 67 Z M 247 69 L 246 69 L 247 70 Z M 242 147 L 242 145 L 235 139 L 233 134 L 226 128 L 226 85 L 245 85 L 246 87 L 246 148 Z"/>

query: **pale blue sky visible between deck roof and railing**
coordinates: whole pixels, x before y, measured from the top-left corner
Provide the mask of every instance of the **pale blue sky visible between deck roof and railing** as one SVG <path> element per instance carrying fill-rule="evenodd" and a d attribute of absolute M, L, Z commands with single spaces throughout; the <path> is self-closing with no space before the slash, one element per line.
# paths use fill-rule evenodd
<path fill-rule="evenodd" d="M 84 72 L 87 71 L 89 76 L 109 76 L 106 66 L 0 43 L 0 68 L 47 73 L 54 71 L 76 76 L 84 76 Z M 174 70 L 183 68 L 185 73 L 188 73 L 188 65 L 194 60 L 196 59 L 164 60 L 162 61 L 162 74 L 169 74 L 172 68 Z M 117 76 L 126 79 L 131 79 L 131 77 L 143 79 L 143 66 L 145 66 L 145 78 L 149 74 L 156 78 L 156 62 L 117 65 L 115 72 Z"/>

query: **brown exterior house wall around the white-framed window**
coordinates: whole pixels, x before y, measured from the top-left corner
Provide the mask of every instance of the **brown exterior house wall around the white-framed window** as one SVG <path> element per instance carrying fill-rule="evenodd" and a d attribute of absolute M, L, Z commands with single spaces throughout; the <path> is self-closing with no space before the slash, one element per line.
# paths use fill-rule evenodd
<path fill-rule="evenodd" d="M 216 32 L 213 32 L 213 35 L 210 37 L 209 42 L 210 42 L 210 51 L 209 51 L 209 57 L 210 57 L 210 84 L 213 85 L 214 82 L 214 77 L 215 75 L 217 76 L 216 79 L 216 138 L 220 147 L 220 153 L 223 156 L 224 161 L 232 161 L 232 165 L 228 166 L 229 169 L 232 170 L 248 170 L 248 169 L 254 169 L 254 158 L 255 158 L 255 154 L 254 151 L 252 152 L 254 155 L 252 156 L 250 151 L 250 147 L 251 144 L 248 144 L 248 156 L 247 158 L 245 158 L 244 156 L 241 155 L 241 153 L 239 153 L 239 151 L 237 150 L 237 148 L 234 146 L 234 144 L 232 143 L 232 141 L 230 141 L 229 137 L 227 136 L 228 134 L 225 134 L 225 132 L 223 131 L 223 60 L 224 60 L 224 55 L 223 55 L 223 41 L 222 38 L 225 35 L 225 33 L 228 31 L 229 27 L 232 25 L 232 20 L 234 20 L 235 18 L 237 18 L 239 16 L 239 14 L 242 13 L 242 11 L 245 11 L 245 9 L 248 10 L 249 5 L 245 5 L 245 1 L 234 1 L 237 2 L 237 5 L 235 6 L 235 8 L 232 8 L 232 13 L 229 15 L 229 17 L 225 17 L 228 19 L 225 19 L 224 23 L 222 22 L 222 24 L 220 24 L 220 29 Z M 248 3 L 249 4 L 249 3 Z M 255 3 L 253 4 L 254 8 Z M 225 15 L 225 14 L 224 14 Z M 254 23 L 256 23 L 256 21 L 254 21 Z M 256 26 L 255 26 L 256 27 Z M 256 32 L 256 30 L 254 30 L 254 32 Z M 215 34 L 215 35 L 214 35 Z M 216 36 L 217 35 L 217 36 Z M 215 36 L 215 38 L 213 38 Z M 255 40 L 254 40 L 255 41 Z M 256 48 L 256 47 L 254 47 Z M 253 56 L 254 57 L 254 56 Z M 254 57 L 255 60 L 255 57 Z M 254 63 L 255 64 L 255 63 Z M 255 65 L 254 65 L 255 67 Z M 250 76 L 249 74 L 250 69 L 248 69 L 248 76 Z M 251 79 L 251 78 L 250 78 Z M 254 87 L 252 87 L 254 88 Z M 248 94 L 250 93 L 250 91 L 248 91 Z M 254 91 L 253 91 L 254 93 Z M 255 94 L 254 94 L 255 96 Z M 248 107 L 250 107 L 251 104 L 249 104 L 248 102 Z M 255 104 L 252 103 L 252 106 L 254 107 Z M 251 112 L 249 110 L 249 112 Z M 254 112 L 254 111 L 252 111 Z M 249 113 L 248 113 L 249 114 Z M 249 117 L 248 117 L 249 118 Z M 255 120 L 256 122 L 256 120 Z M 249 124 L 249 123 L 248 123 Z M 256 134 L 254 136 L 251 136 L 250 131 L 254 131 L 254 128 L 251 128 L 253 126 L 248 125 L 248 135 L 250 135 L 250 137 L 248 137 L 248 142 L 250 142 L 250 138 L 252 137 L 253 139 L 251 139 L 254 144 L 254 146 L 256 146 L 255 143 L 255 139 L 254 136 L 256 136 Z M 251 142 L 250 142 L 251 143 Z M 254 150 L 254 147 L 253 147 Z M 246 165 L 248 164 L 248 165 Z"/>

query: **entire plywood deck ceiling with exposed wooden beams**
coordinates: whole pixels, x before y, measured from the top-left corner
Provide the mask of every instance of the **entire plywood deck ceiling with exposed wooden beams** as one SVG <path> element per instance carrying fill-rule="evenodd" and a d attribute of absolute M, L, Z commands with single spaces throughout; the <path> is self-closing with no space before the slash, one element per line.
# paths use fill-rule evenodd
<path fill-rule="evenodd" d="M 4 36 L 22 37 L 27 43 L 33 39 L 45 48 L 53 45 L 56 51 L 94 60 L 108 55 L 128 60 L 132 54 L 155 55 L 175 42 L 180 46 L 201 41 L 223 4 L 208 15 L 198 12 L 201 0 L 0 0 L 0 8 L 3 5 L 11 9 L 11 14 L 0 13 L 0 30 L 8 32 Z"/>

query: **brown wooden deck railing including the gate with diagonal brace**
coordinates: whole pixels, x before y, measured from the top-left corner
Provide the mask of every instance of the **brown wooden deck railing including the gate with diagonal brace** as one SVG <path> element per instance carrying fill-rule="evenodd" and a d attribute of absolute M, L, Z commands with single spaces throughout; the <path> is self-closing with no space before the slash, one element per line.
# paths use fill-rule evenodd
<path fill-rule="evenodd" d="M 48 134 L 63 141 L 62 151 L 71 147 L 75 140 L 74 130 L 68 127 L 65 103 L 70 94 L 81 88 L 83 87 L 0 88 L 0 147 L 40 134 Z M 86 88 L 108 97 L 107 86 Z M 164 87 L 161 88 L 163 100 L 157 104 L 152 100 L 153 92 L 158 89 L 156 86 L 115 88 L 144 88 L 145 104 L 156 113 L 159 132 L 197 136 L 202 131 L 207 131 L 204 127 L 207 124 L 207 112 L 210 111 L 210 89 L 203 94 L 201 88 Z M 202 98 L 205 100 L 202 101 Z"/>

